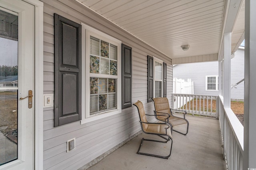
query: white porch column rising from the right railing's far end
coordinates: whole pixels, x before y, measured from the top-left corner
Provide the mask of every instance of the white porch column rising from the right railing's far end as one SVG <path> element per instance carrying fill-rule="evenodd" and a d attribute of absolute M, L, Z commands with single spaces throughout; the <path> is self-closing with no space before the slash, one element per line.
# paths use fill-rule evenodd
<path fill-rule="evenodd" d="M 224 65 L 223 65 L 223 98 L 224 98 L 224 107 L 230 108 L 230 90 L 231 90 L 231 33 L 224 33 L 223 38 L 224 43 Z"/>

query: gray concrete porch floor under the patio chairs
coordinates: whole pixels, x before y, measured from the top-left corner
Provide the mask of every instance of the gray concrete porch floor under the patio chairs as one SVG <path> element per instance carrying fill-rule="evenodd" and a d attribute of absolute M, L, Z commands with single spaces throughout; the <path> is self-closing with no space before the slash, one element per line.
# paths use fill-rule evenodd
<path fill-rule="evenodd" d="M 173 131 L 169 159 L 136 154 L 142 137 L 161 139 L 142 133 L 88 170 L 225 170 L 219 120 L 189 115 L 186 118 L 190 123 L 188 134 Z M 140 151 L 168 155 L 170 145 L 170 141 L 144 141 Z"/>

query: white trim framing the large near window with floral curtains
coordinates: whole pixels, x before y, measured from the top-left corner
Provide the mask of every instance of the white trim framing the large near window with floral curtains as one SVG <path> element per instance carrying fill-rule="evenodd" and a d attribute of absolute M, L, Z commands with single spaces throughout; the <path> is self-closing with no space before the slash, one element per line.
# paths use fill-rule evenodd
<path fill-rule="evenodd" d="M 94 29 L 84 23 L 82 25 L 82 120 L 81 124 L 109 117 L 121 113 L 122 111 L 122 41 L 111 37 L 97 29 Z M 90 35 L 103 41 L 117 46 L 117 82 L 116 82 L 116 102 L 117 108 L 106 111 L 105 113 L 90 115 L 90 60 L 86 61 L 86 57 L 90 57 Z M 89 37 L 86 39 L 86 37 Z M 89 61 L 89 62 L 88 62 Z M 106 77 L 105 75 L 100 75 Z M 111 75 L 108 75 L 111 77 Z"/>

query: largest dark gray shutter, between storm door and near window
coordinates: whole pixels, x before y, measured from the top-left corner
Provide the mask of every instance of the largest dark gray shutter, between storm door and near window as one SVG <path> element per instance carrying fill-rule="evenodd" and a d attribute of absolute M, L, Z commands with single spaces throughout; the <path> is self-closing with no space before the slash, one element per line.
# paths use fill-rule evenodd
<path fill-rule="evenodd" d="M 54 14 L 54 127 L 82 118 L 81 28 Z"/>

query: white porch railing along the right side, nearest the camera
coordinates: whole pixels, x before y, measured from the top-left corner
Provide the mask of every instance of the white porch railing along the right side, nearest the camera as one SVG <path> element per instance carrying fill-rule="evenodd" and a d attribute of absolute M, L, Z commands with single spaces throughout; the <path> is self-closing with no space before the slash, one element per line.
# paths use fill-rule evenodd
<path fill-rule="evenodd" d="M 244 127 L 230 108 L 224 108 L 223 97 L 218 97 L 217 111 L 223 140 L 223 155 L 228 170 L 242 170 Z"/>

